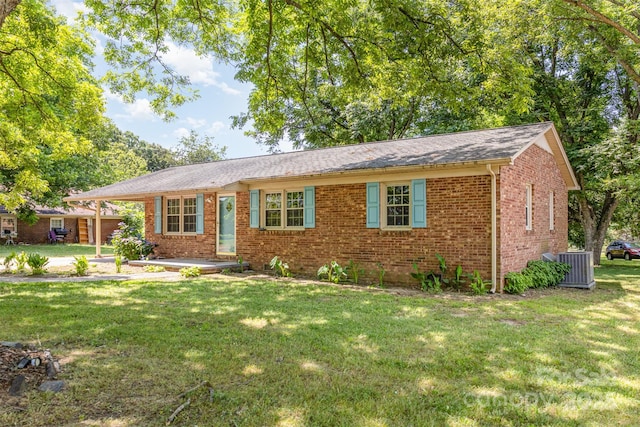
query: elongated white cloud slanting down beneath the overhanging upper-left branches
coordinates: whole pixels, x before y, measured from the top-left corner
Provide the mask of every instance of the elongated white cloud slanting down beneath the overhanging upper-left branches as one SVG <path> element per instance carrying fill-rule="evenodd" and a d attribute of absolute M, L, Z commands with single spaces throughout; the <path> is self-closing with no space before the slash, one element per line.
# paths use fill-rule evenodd
<path fill-rule="evenodd" d="M 214 86 L 230 95 L 239 95 L 241 92 L 230 87 L 225 82 L 220 82 L 220 73 L 213 70 L 213 60 L 211 57 L 198 56 L 193 49 L 168 43 L 169 52 L 163 55 L 167 64 L 183 76 L 189 77 L 193 84 L 203 86 Z"/>

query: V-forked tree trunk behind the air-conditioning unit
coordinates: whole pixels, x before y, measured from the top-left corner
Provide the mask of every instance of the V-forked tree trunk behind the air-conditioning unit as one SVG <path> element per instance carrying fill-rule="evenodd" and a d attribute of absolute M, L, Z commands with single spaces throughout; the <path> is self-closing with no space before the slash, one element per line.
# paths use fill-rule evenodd
<path fill-rule="evenodd" d="M 600 254 L 604 246 L 604 239 L 611 224 L 613 213 L 620 202 L 611 192 L 605 193 L 604 203 L 600 212 L 595 212 L 593 205 L 584 195 L 578 198 L 580 204 L 580 217 L 584 227 L 584 249 L 593 252 L 593 263 L 600 265 Z"/>

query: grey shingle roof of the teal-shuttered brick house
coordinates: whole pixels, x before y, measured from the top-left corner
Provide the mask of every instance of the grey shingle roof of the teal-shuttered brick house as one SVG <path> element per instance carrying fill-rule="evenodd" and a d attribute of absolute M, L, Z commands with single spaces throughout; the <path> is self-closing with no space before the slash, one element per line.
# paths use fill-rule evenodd
<path fill-rule="evenodd" d="M 249 180 L 512 159 L 552 127 L 552 123 L 544 122 L 173 167 L 67 200 L 131 198 L 149 193 L 223 188 Z"/>

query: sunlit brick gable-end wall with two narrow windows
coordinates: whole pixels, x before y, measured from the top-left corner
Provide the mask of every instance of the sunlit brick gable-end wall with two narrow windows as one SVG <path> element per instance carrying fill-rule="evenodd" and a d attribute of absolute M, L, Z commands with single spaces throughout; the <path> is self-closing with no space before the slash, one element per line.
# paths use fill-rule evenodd
<path fill-rule="evenodd" d="M 533 185 L 533 227 L 525 228 L 526 185 Z M 554 193 L 554 230 L 549 230 L 549 193 Z M 554 157 L 538 146 L 500 170 L 500 280 L 545 252 L 567 250 L 568 194 Z"/>

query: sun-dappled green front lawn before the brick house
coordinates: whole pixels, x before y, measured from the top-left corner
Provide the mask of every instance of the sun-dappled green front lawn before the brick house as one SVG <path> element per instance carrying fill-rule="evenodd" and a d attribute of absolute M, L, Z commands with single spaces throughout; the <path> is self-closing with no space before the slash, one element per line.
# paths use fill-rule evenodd
<path fill-rule="evenodd" d="M 288 280 L 0 283 L 0 340 L 68 389 L 0 425 L 634 425 L 640 262 L 594 291 L 407 296 Z"/>

